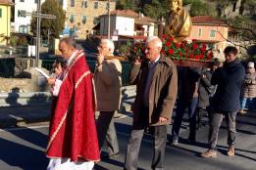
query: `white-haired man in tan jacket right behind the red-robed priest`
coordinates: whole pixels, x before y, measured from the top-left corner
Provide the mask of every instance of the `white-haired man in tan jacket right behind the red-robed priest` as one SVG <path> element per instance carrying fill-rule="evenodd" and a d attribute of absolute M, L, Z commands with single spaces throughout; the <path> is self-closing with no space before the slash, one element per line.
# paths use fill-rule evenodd
<path fill-rule="evenodd" d="M 99 148 L 102 149 L 105 139 L 108 144 L 108 155 L 102 157 L 116 157 L 119 155 L 119 144 L 113 116 L 120 109 L 122 96 L 122 65 L 119 60 L 106 60 L 113 56 L 114 43 L 112 40 L 102 39 L 98 46 L 98 58 L 94 72 L 97 110 L 100 111 L 97 120 Z"/>

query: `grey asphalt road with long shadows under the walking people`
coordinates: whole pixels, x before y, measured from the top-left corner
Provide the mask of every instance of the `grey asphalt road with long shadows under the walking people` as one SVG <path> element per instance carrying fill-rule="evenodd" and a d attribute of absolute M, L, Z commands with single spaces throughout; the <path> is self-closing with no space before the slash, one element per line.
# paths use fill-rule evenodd
<path fill-rule="evenodd" d="M 121 149 L 120 157 L 103 160 L 95 170 L 123 169 L 131 118 L 116 121 Z M 227 130 L 223 124 L 219 136 L 217 158 L 201 158 L 199 153 L 206 148 L 208 127 L 197 131 L 197 144 L 186 143 L 187 123 L 182 124 L 179 147 L 167 146 L 166 170 L 256 170 L 256 113 L 237 117 L 236 155 L 228 157 Z M 169 132 L 171 131 L 171 126 Z M 33 124 L 27 127 L 0 130 L 0 170 L 45 170 L 48 159 L 44 150 L 47 144 L 48 124 Z M 104 150 L 106 150 L 104 148 Z M 145 135 L 139 152 L 139 168 L 148 170 L 153 155 L 151 136 Z"/>

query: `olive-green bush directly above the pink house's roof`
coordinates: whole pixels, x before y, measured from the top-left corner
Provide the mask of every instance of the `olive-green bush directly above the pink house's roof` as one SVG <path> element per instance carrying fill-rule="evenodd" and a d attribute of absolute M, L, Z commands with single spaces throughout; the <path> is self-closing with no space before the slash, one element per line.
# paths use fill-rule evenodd
<path fill-rule="evenodd" d="M 191 9 L 189 12 L 191 17 L 195 16 L 216 16 L 215 9 L 208 3 L 202 2 L 200 0 L 193 0 L 191 4 Z"/>

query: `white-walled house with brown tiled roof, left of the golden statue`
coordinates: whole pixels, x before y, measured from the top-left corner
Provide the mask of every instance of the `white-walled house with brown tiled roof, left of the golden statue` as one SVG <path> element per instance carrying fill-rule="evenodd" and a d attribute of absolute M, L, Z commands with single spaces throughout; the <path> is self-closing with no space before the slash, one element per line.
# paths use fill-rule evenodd
<path fill-rule="evenodd" d="M 110 18 L 110 34 L 127 37 L 147 37 L 154 35 L 156 21 L 130 10 L 113 11 Z M 95 28 L 96 34 L 108 35 L 108 15 L 100 17 L 100 23 Z"/>

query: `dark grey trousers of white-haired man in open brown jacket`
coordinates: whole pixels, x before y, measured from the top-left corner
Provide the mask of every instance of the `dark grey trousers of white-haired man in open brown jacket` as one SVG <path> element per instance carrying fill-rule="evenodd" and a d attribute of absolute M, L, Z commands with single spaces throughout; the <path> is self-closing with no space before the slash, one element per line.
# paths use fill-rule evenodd
<path fill-rule="evenodd" d="M 146 111 L 145 114 L 147 114 Z M 144 115 L 145 115 L 144 114 Z M 128 141 L 128 150 L 125 160 L 125 170 L 136 170 L 137 169 L 137 160 L 138 152 L 140 149 L 141 140 L 144 134 L 145 129 L 148 128 L 148 123 L 141 120 L 141 124 L 132 126 Z M 167 126 L 150 126 L 153 131 L 153 147 L 154 155 L 152 160 L 152 169 L 161 170 L 164 169 L 163 161 L 166 148 L 167 140 Z"/>

